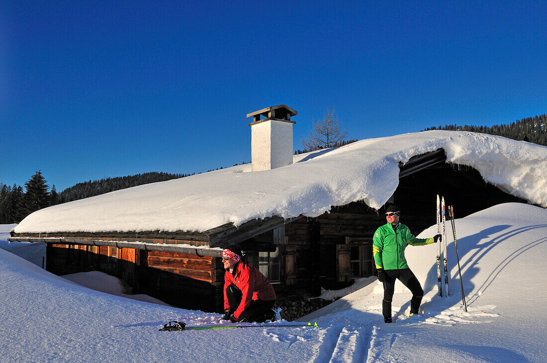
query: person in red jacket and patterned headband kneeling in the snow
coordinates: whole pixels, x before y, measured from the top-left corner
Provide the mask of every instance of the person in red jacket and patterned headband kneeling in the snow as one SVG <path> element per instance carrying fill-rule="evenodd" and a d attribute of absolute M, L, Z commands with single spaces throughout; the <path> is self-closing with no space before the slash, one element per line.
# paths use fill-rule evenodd
<path fill-rule="evenodd" d="M 274 287 L 259 270 L 243 263 L 241 258 L 241 251 L 235 247 L 222 252 L 226 269 L 223 319 L 232 323 L 263 323 L 272 316 L 276 299 Z"/>

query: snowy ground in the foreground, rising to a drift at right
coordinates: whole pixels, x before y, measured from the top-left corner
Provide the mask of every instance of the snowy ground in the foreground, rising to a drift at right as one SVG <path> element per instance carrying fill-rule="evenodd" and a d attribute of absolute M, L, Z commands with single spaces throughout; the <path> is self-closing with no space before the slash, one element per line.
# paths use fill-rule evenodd
<path fill-rule="evenodd" d="M 547 361 L 547 211 L 502 204 L 456 228 L 469 312 L 453 244 L 450 297 L 437 296 L 437 246 L 409 247 L 421 316 L 406 318 L 410 294 L 398 284 L 395 322 L 384 324 L 374 281 L 305 318 L 318 328 L 161 332 L 168 320 L 220 324 L 220 315 L 90 290 L 0 249 L 0 361 Z"/>

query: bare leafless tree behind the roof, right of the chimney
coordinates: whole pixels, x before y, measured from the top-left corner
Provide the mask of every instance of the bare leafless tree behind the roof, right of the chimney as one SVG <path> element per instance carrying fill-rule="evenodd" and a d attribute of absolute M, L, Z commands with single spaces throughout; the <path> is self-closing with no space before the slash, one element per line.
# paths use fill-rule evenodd
<path fill-rule="evenodd" d="M 334 115 L 334 110 L 327 109 L 323 115 L 323 120 L 315 122 L 312 120 L 312 128 L 307 138 L 301 139 L 302 146 L 310 151 L 321 148 L 333 147 L 340 144 L 347 136 L 348 130 L 342 130 L 342 125 L 338 116 Z"/>

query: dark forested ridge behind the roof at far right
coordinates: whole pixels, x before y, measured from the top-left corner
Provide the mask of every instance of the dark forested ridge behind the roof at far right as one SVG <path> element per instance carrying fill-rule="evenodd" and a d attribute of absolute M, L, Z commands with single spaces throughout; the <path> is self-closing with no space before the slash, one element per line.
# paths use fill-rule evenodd
<path fill-rule="evenodd" d="M 428 127 L 427 130 L 451 130 L 451 131 L 471 131 L 484 134 L 503 136 L 513 140 L 523 140 L 533 142 L 534 144 L 547 146 L 547 115 L 523 118 L 511 122 L 510 124 L 501 124 L 494 126 L 457 126 L 445 125 L 437 127 Z"/>

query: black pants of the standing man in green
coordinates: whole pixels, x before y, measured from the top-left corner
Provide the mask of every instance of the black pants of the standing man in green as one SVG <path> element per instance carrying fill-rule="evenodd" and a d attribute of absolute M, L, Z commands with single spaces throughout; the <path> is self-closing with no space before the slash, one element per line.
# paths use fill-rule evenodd
<path fill-rule="evenodd" d="M 423 297 L 423 289 L 420 282 L 414 276 L 410 269 L 400 270 L 384 270 L 386 272 L 386 282 L 383 283 L 383 301 L 382 314 L 384 318 L 391 318 L 391 302 L 393 301 L 393 293 L 395 291 L 395 279 L 399 279 L 410 292 L 412 300 L 410 300 L 410 312 L 417 314 Z"/>

